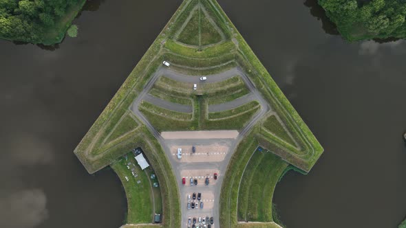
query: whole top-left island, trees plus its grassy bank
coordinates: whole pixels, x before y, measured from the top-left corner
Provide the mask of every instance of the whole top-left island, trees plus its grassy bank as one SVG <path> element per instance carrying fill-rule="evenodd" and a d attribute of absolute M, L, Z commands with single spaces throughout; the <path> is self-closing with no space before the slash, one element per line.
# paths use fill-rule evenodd
<path fill-rule="evenodd" d="M 61 43 L 86 0 L 0 0 L 0 38 Z"/>

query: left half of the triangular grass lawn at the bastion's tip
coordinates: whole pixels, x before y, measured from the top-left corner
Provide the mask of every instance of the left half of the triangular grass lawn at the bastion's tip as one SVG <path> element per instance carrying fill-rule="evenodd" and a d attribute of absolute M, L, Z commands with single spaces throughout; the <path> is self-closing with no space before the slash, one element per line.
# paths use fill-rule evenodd
<path fill-rule="evenodd" d="M 178 36 L 178 41 L 187 45 L 200 45 L 200 9 L 191 12 L 192 17 Z"/>

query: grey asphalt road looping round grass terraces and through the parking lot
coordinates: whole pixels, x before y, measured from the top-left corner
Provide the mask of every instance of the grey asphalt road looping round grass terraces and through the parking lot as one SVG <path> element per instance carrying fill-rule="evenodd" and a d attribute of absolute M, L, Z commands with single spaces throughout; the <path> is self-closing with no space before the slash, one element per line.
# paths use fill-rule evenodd
<path fill-rule="evenodd" d="M 145 126 L 147 126 L 147 128 L 149 128 L 149 130 L 156 137 L 156 139 L 158 139 L 160 145 L 164 149 L 165 154 L 167 155 L 167 157 L 171 163 L 171 166 L 175 173 L 175 177 L 178 180 L 178 187 L 180 190 L 180 202 L 181 202 L 181 209 L 182 209 L 182 221 L 181 221 L 182 227 L 186 227 L 187 218 L 189 217 L 190 213 L 193 214 L 193 213 L 198 213 L 198 212 L 202 212 L 201 216 L 205 216 L 205 215 L 213 216 L 214 220 L 215 220 L 214 227 L 217 227 L 219 225 L 219 215 L 220 215 L 220 212 L 219 212 L 220 190 L 221 190 L 221 186 L 222 186 L 222 181 L 224 179 L 224 176 L 222 176 L 222 175 L 224 175 L 226 173 L 226 168 L 228 166 L 228 163 L 229 163 L 231 157 L 233 156 L 233 152 L 237 148 L 239 141 L 241 141 L 241 139 L 246 136 L 246 134 L 250 131 L 250 129 L 257 123 L 257 121 L 261 117 L 263 117 L 268 111 L 270 111 L 270 106 L 268 105 L 266 100 L 264 100 L 264 98 L 262 98 L 259 91 L 257 91 L 257 89 L 255 88 L 254 84 L 252 82 L 250 82 L 250 80 L 246 76 L 246 74 L 238 67 L 235 67 L 228 71 L 224 71 L 222 73 L 209 75 L 209 76 L 207 76 L 208 80 L 206 82 L 219 82 L 219 81 L 225 80 L 226 78 L 231 78 L 235 75 L 241 76 L 242 79 L 244 80 L 244 82 L 246 83 L 248 90 L 252 94 L 253 98 L 255 98 L 255 100 L 257 100 L 259 102 L 259 104 L 261 105 L 260 111 L 239 132 L 237 139 L 227 139 L 228 141 L 224 141 L 226 139 L 223 139 L 223 140 L 222 139 L 204 139 L 204 140 L 201 139 L 202 141 L 200 141 L 200 139 L 164 140 L 162 138 L 162 136 L 160 135 L 160 133 L 158 133 L 158 131 L 155 128 L 153 128 L 153 126 L 142 115 L 142 113 L 140 113 L 140 111 L 138 111 L 138 105 L 140 104 L 140 102 L 143 99 L 145 99 L 145 96 L 147 95 L 148 91 L 152 88 L 152 86 L 156 82 L 156 80 L 162 75 L 169 76 L 170 78 L 173 78 L 175 80 L 180 80 L 182 82 L 198 82 L 198 80 L 199 80 L 199 76 L 187 76 L 182 73 L 177 73 L 175 71 L 171 71 L 171 70 L 167 69 L 166 67 L 160 67 L 158 69 L 158 71 L 156 71 L 156 73 L 153 74 L 153 76 L 151 77 L 151 80 L 145 85 L 145 87 L 142 90 L 142 92 L 140 93 L 140 95 L 138 95 L 138 98 L 136 98 L 136 100 L 134 100 L 133 104 L 131 105 L 131 111 L 133 111 L 133 113 L 145 124 Z M 191 81 L 191 80 L 193 80 L 193 81 Z M 171 145 L 171 143 L 173 143 L 173 141 L 178 141 L 182 145 L 189 144 L 189 146 L 192 146 L 197 143 L 213 144 L 213 143 L 224 142 L 224 143 L 228 143 L 229 150 L 228 150 L 226 157 L 221 162 L 181 163 L 177 159 L 175 159 L 175 157 L 171 154 L 171 150 L 170 150 L 169 146 Z M 188 190 L 186 189 L 186 187 L 184 187 L 182 185 L 182 176 L 181 176 L 180 171 L 184 170 L 184 169 L 200 170 L 200 169 L 212 169 L 212 168 L 220 170 L 220 178 L 216 181 L 215 185 L 204 186 L 204 184 L 202 183 L 202 180 L 201 180 L 200 185 L 195 186 L 194 192 L 198 192 L 199 190 L 213 192 L 214 193 L 214 203 L 215 203 L 213 209 L 211 209 L 209 211 L 206 211 L 206 209 L 193 209 L 193 212 L 189 213 L 188 209 L 186 207 L 187 200 L 186 200 L 186 196 L 185 196 L 186 191 L 188 191 Z M 205 213 L 209 213 L 209 212 L 211 212 L 211 214 L 205 214 Z"/>

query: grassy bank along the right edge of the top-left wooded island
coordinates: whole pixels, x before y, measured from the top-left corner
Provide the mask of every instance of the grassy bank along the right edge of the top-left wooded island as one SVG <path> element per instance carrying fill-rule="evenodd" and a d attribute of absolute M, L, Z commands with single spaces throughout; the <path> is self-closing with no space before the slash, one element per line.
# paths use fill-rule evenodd
<path fill-rule="evenodd" d="M 85 5 L 86 0 L 79 1 L 76 5 L 72 5 L 66 10 L 64 16 L 55 21 L 52 27 L 48 28 L 43 35 L 43 40 L 41 41 L 44 45 L 54 45 L 56 43 L 61 43 L 65 34 L 72 25 L 72 21 L 75 19 L 76 15 L 81 12 L 83 5 Z"/>

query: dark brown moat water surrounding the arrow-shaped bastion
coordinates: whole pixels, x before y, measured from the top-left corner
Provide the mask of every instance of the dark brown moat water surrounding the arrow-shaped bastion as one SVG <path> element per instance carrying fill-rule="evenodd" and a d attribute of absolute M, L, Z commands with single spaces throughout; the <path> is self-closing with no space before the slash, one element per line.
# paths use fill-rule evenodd
<path fill-rule="evenodd" d="M 0 41 L 0 227 L 122 224 L 114 172 L 89 175 L 72 151 L 180 3 L 92 1 L 77 38 Z M 281 220 L 396 227 L 406 216 L 406 41 L 345 43 L 316 0 L 220 5 L 325 148 L 310 174 L 277 185 Z"/>

